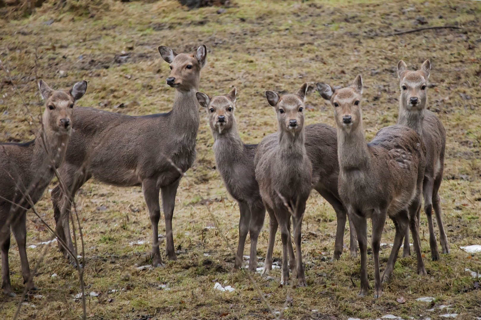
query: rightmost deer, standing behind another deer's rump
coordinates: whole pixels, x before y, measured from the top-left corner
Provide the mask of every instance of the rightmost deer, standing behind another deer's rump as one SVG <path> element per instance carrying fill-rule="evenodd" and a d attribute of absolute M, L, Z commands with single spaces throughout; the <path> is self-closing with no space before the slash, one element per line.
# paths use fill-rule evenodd
<path fill-rule="evenodd" d="M 441 181 L 443 181 L 446 133 L 438 117 L 433 112 L 426 110 L 426 88 L 430 67 L 429 60 L 424 61 L 418 71 L 408 71 L 407 65 L 403 60 L 400 60 L 397 64 L 397 74 L 401 87 L 397 123 L 415 130 L 426 147 L 426 168 L 424 169 L 423 181 L 424 212 L 428 218 L 431 258 L 432 260 L 438 260 L 438 244 L 432 225 L 433 209 L 439 227 L 441 248 L 443 253 L 449 253 L 449 244 L 444 232 L 438 193 Z M 403 257 L 409 254 L 409 230 L 406 230 Z"/>

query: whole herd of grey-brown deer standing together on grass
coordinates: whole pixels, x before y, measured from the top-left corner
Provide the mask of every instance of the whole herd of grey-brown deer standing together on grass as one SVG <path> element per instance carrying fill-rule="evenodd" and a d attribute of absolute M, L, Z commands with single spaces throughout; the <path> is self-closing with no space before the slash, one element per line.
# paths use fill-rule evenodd
<path fill-rule="evenodd" d="M 304 83 L 294 94 L 266 91 L 267 103 L 277 116 L 278 131 L 267 135 L 259 144 L 244 144 L 234 116 L 237 89 L 215 97 L 198 91 L 201 69 L 206 63 L 206 47 L 200 46 L 193 54 L 177 54 L 161 46 L 159 52 L 171 70 L 166 83 L 176 89 L 174 105 L 168 113 L 134 117 L 91 107 L 74 108 L 87 90 L 86 81 L 76 83 L 70 91 L 54 91 L 39 81 L 45 112 L 37 139 L 0 144 L 1 285 L 6 295 L 15 296 L 8 260 L 11 231 L 20 252 L 24 283 L 28 289 L 37 290 L 25 250 L 26 212 L 41 198 L 54 176 L 60 182 L 51 191 L 55 233 L 59 249 L 72 264 L 75 264 L 72 257 L 75 249 L 69 217 L 73 195 L 90 178 L 114 186 L 142 187 L 152 223 L 154 267 L 163 265 L 158 233 L 160 192 L 166 255 L 169 260 L 176 260 L 172 216 L 182 177 L 179 171 L 187 171 L 196 158 L 199 104 L 207 111 L 214 136 L 216 167 L 226 189 L 239 203 L 239 245 L 233 271 L 242 267 L 247 234 L 251 240 L 248 271 L 256 270 L 257 238 L 267 210 L 269 239 L 262 274 L 271 271 L 275 236 L 280 227 L 280 282 L 289 284 L 291 270 L 292 276 L 297 277 L 297 285 L 306 286 L 301 227 L 311 189 L 319 192 L 337 215 L 333 260 L 342 254 L 346 218 L 349 221 L 351 256 L 356 257 L 358 249 L 361 255 L 359 296 L 365 296 L 369 287 L 369 218 L 375 298 L 382 294 L 381 283 L 392 275 L 403 239 L 403 257 L 410 255 L 409 230 L 417 272 L 426 275 L 419 239 L 422 198 L 431 258 L 440 257 L 432 223 L 433 210 L 442 252 L 449 253 L 438 194 L 443 179 L 445 132 L 441 121 L 427 110 L 429 60 L 417 71 L 408 70 L 405 62 L 399 61 L 398 123 L 379 130 L 370 142 L 366 141 L 363 129 L 363 83 L 357 75 L 350 86 L 341 89 L 318 82 Z M 305 96 L 316 90 L 332 105 L 336 128 L 322 123 L 304 125 Z M 380 240 L 388 216 L 395 225 L 395 237 L 381 276 Z"/>

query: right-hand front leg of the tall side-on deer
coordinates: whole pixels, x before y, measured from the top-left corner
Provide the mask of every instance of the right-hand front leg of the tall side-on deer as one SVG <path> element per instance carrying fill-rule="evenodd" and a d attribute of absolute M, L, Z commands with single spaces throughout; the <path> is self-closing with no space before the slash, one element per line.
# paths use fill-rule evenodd
<path fill-rule="evenodd" d="M 161 189 L 162 208 L 164 209 L 164 218 L 165 218 L 165 238 L 167 240 L 166 248 L 167 248 L 167 256 L 169 257 L 169 260 L 177 260 L 176 252 L 174 249 L 174 234 L 172 232 L 172 216 L 174 215 L 177 187 L 179 185 L 179 182 L 180 182 L 180 178 L 178 178 L 177 181 L 172 183 L 171 185 Z M 157 195 L 157 203 L 159 203 L 158 195 Z M 152 231 L 153 231 L 153 228 L 152 228 Z M 157 225 L 155 227 L 155 232 L 156 232 L 156 237 L 158 237 Z"/>

